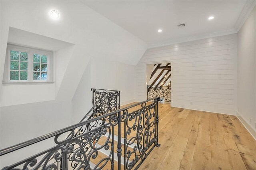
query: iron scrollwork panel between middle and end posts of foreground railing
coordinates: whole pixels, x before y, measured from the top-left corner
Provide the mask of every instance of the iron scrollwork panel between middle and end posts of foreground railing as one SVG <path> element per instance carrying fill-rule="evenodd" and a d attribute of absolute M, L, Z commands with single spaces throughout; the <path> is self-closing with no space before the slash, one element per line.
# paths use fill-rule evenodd
<path fill-rule="evenodd" d="M 158 101 L 142 103 L 141 108 L 129 113 L 124 110 L 121 122 L 124 123 L 124 169 L 137 169 L 152 149 L 158 144 Z"/>

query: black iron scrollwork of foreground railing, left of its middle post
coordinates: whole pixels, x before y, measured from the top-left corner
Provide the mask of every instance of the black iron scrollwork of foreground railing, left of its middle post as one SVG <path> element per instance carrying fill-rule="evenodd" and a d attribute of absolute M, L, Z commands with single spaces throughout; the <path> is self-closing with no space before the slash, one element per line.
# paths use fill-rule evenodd
<path fill-rule="evenodd" d="M 2 170 L 101 170 L 107 164 L 114 169 L 114 138 L 111 135 L 118 118 L 113 117 L 113 114 L 108 114 L 106 117 L 108 117 L 108 123 L 85 131 L 83 134 L 76 135 L 75 131 L 79 126 L 67 131 L 72 134 L 67 139 L 63 140 L 60 137 L 66 132 L 57 134 L 54 136 L 56 146 L 16 164 L 6 166 Z M 97 146 L 98 140 L 103 136 L 106 139 L 104 144 Z M 104 155 L 103 158 L 101 154 L 101 158 L 98 158 L 99 152 L 104 150 L 110 150 L 111 154 Z M 97 160 L 97 164 L 92 166 L 92 160 Z"/>

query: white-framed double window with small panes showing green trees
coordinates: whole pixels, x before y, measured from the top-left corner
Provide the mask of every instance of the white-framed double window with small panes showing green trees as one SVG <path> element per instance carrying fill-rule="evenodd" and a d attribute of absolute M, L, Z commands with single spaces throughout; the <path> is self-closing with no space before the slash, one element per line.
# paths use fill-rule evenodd
<path fill-rule="evenodd" d="M 53 52 L 7 45 L 3 84 L 53 83 Z"/>

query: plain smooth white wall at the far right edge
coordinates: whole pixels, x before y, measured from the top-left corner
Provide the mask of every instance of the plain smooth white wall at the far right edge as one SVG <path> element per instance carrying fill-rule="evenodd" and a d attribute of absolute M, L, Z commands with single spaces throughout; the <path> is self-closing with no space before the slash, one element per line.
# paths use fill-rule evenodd
<path fill-rule="evenodd" d="M 256 138 L 256 7 L 238 32 L 237 115 Z M 251 119 L 251 121 L 250 121 Z"/>

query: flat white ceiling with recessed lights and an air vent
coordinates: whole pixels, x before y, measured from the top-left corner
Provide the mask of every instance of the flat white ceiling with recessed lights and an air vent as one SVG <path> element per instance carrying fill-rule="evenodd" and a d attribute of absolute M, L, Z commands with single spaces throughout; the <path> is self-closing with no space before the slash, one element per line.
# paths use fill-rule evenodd
<path fill-rule="evenodd" d="M 83 1 L 149 47 L 178 42 L 191 37 L 235 33 L 235 24 L 246 6 L 246 0 L 169 0 Z M 214 16 L 213 20 L 208 20 Z M 177 24 L 186 24 L 177 28 Z M 157 30 L 162 29 L 161 33 Z"/>

